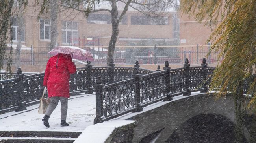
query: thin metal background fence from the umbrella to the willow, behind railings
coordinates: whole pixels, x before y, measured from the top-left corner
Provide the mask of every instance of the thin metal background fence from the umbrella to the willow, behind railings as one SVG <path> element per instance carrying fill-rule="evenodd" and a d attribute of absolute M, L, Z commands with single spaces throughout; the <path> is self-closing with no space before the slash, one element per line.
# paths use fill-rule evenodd
<path fill-rule="evenodd" d="M 81 47 L 90 51 L 94 58 L 94 64 L 105 64 L 107 56 L 106 46 L 102 47 Z M 189 45 L 189 46 L 117 46 L 114 52 L 114 61 L 118 64 L 132 64 L 137 60 L 139 64 L 163 64 L 168 61 L 170 64 L 182 64 L 188 58 L 191 64 L 199 64 L 203 58 L 209 64 L 217 63 L 219 52 L 207 54 L 210 45 Z"/>

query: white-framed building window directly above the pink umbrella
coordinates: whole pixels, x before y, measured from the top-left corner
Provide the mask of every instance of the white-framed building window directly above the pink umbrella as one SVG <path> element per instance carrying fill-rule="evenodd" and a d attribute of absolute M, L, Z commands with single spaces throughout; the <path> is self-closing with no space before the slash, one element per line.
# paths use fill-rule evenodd
<path fill-rule="evenodd" d="M 62 43 L 78 44 L 77 22 L 62 22 Z"/>

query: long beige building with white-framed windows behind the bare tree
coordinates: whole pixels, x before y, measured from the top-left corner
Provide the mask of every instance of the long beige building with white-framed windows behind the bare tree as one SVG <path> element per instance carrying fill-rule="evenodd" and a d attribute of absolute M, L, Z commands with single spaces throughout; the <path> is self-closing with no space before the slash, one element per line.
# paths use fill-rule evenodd
<path fill-rule="evenodd" d="M 24 20 L 22 45 L 27 47 L 30 45 L 49 47 L 50 45 L 52 25 L 50 14 L 46 13 L 37 19 L 39 9 L 40 7 L 27 7 L 22 16 Z M 127 11 L 119 24 L 117 45 L 131 45 L 143 40 L 173 43 L 176 40 L 173 37 L 173 15 L 174 12 L 170 12 L 160 20 L 152 20 L 138 11 Z M 92 13 L 85 18 L 83 13 L 67 9 L 59 12 L 57 17 L 57 45 L 108 46 L 112 33 L 109 12 Z M 12 28 L 13 44 L 16 44 L 19 27 L 13 22 Z"/>

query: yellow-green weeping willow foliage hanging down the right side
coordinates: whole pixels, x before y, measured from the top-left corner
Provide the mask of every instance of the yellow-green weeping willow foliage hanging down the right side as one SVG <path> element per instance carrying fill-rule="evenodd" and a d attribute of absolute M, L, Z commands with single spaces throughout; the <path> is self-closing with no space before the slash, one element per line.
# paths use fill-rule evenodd
<path fill-rule="evenodd" d="M 198 21 L 208 20 L 210 27 L 218 24 L 207 41 L 214 42 L 208 55 L 220 52 L 218 60 L 224 59 L 213 74 L 210 90 L 220 87 L 216 98 L 230 92 L 234 96 L 236 141 L 240 143 L 246 107 L 256 108 L 256 0 L 182 0 L 181 10 Z M 252 96 L 249 106 L 243 95 L 245 82 Z"/>

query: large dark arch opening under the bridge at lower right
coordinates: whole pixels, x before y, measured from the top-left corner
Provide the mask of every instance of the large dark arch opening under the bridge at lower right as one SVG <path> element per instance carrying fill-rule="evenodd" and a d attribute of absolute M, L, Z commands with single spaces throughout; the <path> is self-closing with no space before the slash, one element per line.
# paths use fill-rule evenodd
<path fill-rule="evenodd" d="M 221 114 L 198 114 L 182 123 L 165 143 L 234 143 L 235 124 Z M 246 142 L 244 138 L 243 143 Z"/>

